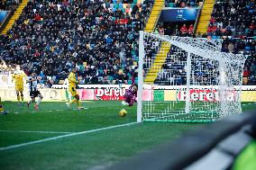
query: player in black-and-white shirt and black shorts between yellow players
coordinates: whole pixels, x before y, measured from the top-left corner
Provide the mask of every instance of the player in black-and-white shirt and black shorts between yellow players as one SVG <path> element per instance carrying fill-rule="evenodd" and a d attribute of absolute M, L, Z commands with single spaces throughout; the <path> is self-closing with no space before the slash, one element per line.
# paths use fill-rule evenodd
<path fill-rule="evenodd" d="M 30 106 L 31 103 L 35 102 L 36 97 L 39 97 L 37 103 L 34 105 L 34 109 L 38 111 L 39 103 L 41 103 L 41 100 L 43 97 L 40 91 L 37 89 L 38 78 L 34 72 L 32 72 L 31 76 L 28 77 L 27 83 L 29 84 L 30 96 L 32 98 L 32 100 L 28 102 L 28 107 Z"/>

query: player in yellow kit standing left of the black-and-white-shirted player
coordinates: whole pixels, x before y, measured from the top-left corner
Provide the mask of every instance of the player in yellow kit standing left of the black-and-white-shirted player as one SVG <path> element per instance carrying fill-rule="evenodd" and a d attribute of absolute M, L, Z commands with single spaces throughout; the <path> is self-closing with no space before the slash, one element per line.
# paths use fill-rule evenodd
<path fill-rule="evenodd" d="M 15 82 L 15 90 L 17 94 L 17 100 L 18 104 L 20 103 L 22 99 L 22 104 L 23 104 L 23 80 L 26 78 L 25 73 L 23 70 L 21 70 L 21 67 L 19 65 L 16 66 L 16 70 L 14 71 L 13 75 L 13 81 Z M 21 94 L 21 96 L 20 96 Z"/>

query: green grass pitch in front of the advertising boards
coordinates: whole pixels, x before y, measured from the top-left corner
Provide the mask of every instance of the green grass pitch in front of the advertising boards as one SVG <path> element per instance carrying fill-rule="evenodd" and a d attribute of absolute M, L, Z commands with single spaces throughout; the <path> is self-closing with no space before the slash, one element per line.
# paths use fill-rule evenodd
<path fill-rule="evenodd" d="M 3 104 L 10 113 L 0 115 L 0 169 L 101 169 L 205 125 L 143 122 L 8 149 L 36 140 L 135 122 L 136 106 L 123 107 L 116 101 L 87 101 L 83 103 L 87 109 L 78 111 L 69 110 L 63 102 L 42 102 L 39 112 L 34 112 L 33 108 L 14 102 Z M 250 110 L 255 103 L 242 103 L 242 107 L 244 111 Z M 123 108 L 128 114 L 119 117 L 117 113 Z"/>

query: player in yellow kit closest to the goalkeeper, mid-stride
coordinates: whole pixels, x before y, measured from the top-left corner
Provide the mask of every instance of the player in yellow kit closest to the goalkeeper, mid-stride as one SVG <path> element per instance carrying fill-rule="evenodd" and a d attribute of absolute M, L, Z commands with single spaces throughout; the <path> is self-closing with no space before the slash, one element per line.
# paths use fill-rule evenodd
<path fill-rule="evenodd" d="M 77 88 L 76 88 L 76 86 L 78 85 L 78 81 L 76 79 L 76 73 L 77 73 L 77 68 L 72 68 L 72 71 L 68 76 L 69 92 L 72 95 L 72 97 L 74 97 L 74 99 L 71 100 L 69 103 L 66 103 L 66 105 L 68 107 L 70 107 L 70 104 L 77 103 L 78 104 L 78 110 L 80 110 L 80 109 L 83 109 L 83 107 L 81 107 L 81 103 L 79 101 L 80 97 L 78 95 Z"/>

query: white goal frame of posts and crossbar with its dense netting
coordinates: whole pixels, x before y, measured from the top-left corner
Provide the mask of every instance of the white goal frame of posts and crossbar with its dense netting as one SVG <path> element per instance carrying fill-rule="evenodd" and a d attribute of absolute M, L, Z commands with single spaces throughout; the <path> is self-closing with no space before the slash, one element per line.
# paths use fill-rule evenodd
<path fill-rule="evenodd" d="M 191 74 L 191 55 L 197 55 L 198 57 L 216 60 L 220 64 L 218 69 L 223 70 L 224 72 L 228 72 L 228 67 L 232 64 L 239 65 L 243 68 L 245 57 L 242 54 L 232 54 L 232 53 L 224 53 L 221 52 L 222 48 L 222 40 L 206 40 L 206 39 L 195 39 L 190 37 L 177 37 L 177 36 L 166 36 L 166 35 L 160 35 L 156 33 L 148 33 L 145 31 L 140 31 L 140 38 L 139 38 L 139 68 L 138 68 L 138 98 L 137 98 L 137 122 L 142 122 L 142 92 L 143 92 L 143 64 L 145 57 L 145 51 L 144 51 L 144 36 L 150 36 L 152 39 L 167 41 L 171 45 L 177 46 L 179 49 L 183 49 L 187 51 L 187 97 L 186 97 L 186 108 L 185 112 L 189 112 L 189 105 L 190 105 L 190 74 Z M 239 79 L 240 82 L 238 87 L 239 91 L 239 97 L 238 100 L 241 100 L 241 85 L 242 85 L 242 71 L 239 72 Z M 222 78 L 222 74 L 220 74 L 220 79 Z M 233 88 L 234 85 L 232 85 L 231 81 L 219 81 L 219 84 L 217 85 L 220 87 L 220 90 L 223 95 L 226 93 L 226 91 Z M 220 112 L 223 112 L 223 115 L 229 114 L 228 112 L 231 112 L 230 110 L 227 110 L 225 108 L 225 101 L 224 97 L 221 98 L 223 100 L 223 103 L 220 104 Z M 239 101 L 240 102 L 240 101 Z M 241 112 L 241 105 L 240 109 L 238 109 Z M 221 116 L 222 117 L 222 116 Z"/>

